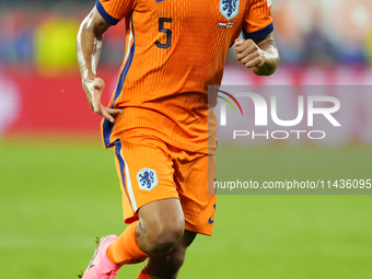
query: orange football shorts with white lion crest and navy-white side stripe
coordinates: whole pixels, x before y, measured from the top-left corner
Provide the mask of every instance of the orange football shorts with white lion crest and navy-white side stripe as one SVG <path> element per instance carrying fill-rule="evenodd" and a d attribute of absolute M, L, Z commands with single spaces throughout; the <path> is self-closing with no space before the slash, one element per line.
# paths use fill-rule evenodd
<path fill-rule="evenodd" d="M 211 235 L 216 195 L 214 155 L 174 148 L 149 135 L 126 135 L 114 142 L 116 170 L 123 191 L 126 223 L 138 220 L 142 206 L 177 198 L 184 210 L 185 229 Z"/>

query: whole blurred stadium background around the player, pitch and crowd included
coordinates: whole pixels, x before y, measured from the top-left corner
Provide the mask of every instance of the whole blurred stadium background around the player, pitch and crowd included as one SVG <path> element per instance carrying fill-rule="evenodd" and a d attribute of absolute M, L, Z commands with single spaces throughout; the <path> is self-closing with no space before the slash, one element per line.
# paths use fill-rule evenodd
<path fill-rule="evenodd" d="M 75 61 L 78 27 L 93 5 L 0 0 L 0 278 L 74 278 L 94 236 L 125 228 L 113 154 L 102 148 Z M 272 16 L 277 73 L 253 75 L 232 49 L 224 84 L 372 85 L 371 0 L 274 0 Z M 105 36 L 104 102 L 124 36 L 123 23 Z M 364 118 L 353 117 L 354 127 L 369 129 L 369 104 L 359 101 Z M 234 175 L 235 162 L 274 181 L 293 172 L 372 178 L 372 138 L 358 135 L 337 147 L 225 147 L 220 177 Z M 179 278 L 371 278 L 370 196 L 220 196 L 217 210 L 214 236 L 196 240 Z M 118 278 L 141 267 L 125 269 Z"/>

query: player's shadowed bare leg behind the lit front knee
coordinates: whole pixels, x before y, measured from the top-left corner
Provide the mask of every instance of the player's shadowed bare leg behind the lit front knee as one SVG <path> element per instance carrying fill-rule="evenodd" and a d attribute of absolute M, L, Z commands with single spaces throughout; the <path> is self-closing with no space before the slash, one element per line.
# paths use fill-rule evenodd
<path fill-rule="evenodd" d="M 178 244 L 166 255 L 150 257 L 146 266 L 152 279 L 175 279 L 184 264 L 186 248 L 196 237 L 195 232 L 185 231 Z"/>

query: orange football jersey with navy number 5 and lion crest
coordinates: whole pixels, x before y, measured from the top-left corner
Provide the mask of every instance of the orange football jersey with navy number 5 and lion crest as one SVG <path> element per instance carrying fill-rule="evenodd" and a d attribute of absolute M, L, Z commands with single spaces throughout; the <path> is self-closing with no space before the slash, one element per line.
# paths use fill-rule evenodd
<path fill-rule="evenodd" d="M 271 0 L 98 0 L 107 23 L 125 18 L 127 26 L 109 103 L 124 113 L 115 124 L 102 121 L 104 146 L 140 133 L 213 153 L 217 118 L 208 108 L 208 85 L 220 85 L 228 50 L 242 31 L 252 39 L 272 32 L 270 5 Z"/>

